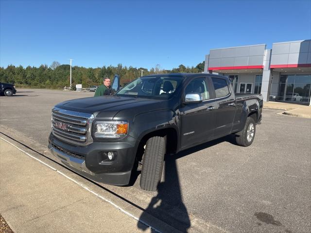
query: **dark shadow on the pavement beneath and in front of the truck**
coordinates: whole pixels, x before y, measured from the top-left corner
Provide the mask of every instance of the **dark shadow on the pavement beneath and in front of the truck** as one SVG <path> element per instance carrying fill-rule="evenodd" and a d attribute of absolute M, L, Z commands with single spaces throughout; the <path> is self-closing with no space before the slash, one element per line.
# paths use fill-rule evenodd
<path fill-rule="evenodd" d="M 152 198 L 139 219 L 148 222 L 148 215 L 152 215 L 180 232 L 187 232 L 191 222 L 187 208 L 182 200 L 176 160 L 225 141 L 235 144 L 233 137 L 234 135 L 228 135 L 177 154 L 167 155 L 165 157 L 164 173 L 162 174 L 164 175 L 164 182 L 158 184 L 157 195 Z M 138 228 L 145 231 L 148 227 L 138 222 Z"/>

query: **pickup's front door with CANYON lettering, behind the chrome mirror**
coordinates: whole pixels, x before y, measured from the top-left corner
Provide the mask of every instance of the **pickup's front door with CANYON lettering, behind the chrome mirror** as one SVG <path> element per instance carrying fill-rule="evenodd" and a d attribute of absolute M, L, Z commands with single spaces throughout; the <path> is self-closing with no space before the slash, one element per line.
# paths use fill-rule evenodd
<path fill-rule="evenodd" d="M 179 109 L 181 114 L 181 149 L 189 148 L 213 137 L 215 124 L 214 103 L 206 77 L 195 78 L 184 89 L 183 99 L 187 94 L 201 95 L 202 102 L 184 104 Z M 183 102 L 184 102 L 183 100 Z"/>

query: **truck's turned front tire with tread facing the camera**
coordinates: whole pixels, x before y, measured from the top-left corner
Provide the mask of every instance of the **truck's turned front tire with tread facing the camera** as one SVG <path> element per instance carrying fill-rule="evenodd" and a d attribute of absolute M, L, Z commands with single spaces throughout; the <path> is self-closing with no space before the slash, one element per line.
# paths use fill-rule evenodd
<path fill-rule="evenodd" d="M 148 139 L 140 176 L 140 187 L 147 191 L 156 191 L 161 180 L 166 139 L 155 136 Z"/>

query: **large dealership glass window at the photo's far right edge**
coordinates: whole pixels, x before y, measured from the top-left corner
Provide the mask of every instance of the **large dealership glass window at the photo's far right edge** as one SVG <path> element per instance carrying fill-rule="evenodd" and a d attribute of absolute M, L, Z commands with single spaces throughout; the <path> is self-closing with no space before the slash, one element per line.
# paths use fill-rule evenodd
<path fill-rule="evenodd" d="M 310 102 L 311 75 L 280 75 L 279 101 Z"/>

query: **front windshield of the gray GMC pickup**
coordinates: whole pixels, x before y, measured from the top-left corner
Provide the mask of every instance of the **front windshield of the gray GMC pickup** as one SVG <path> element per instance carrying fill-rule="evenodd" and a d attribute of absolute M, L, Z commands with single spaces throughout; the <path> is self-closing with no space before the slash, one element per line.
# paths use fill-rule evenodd
<path fill-rule="evenodd" d="M 183 77 L 181 76 L 154 76 L 142 77 L 128 83 L 117 96 L 133 96 L 154 99 L 169 99 L 176 91 Z"/>

